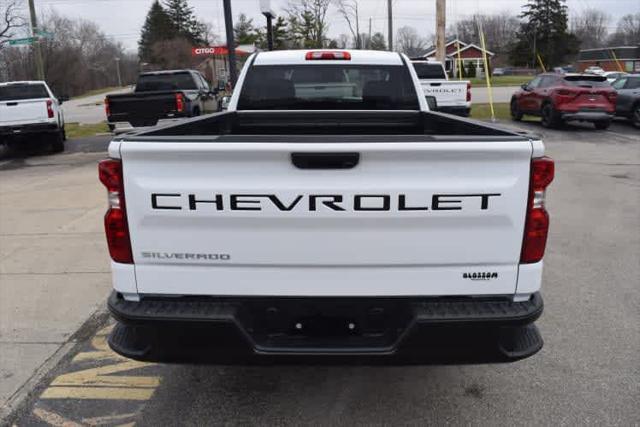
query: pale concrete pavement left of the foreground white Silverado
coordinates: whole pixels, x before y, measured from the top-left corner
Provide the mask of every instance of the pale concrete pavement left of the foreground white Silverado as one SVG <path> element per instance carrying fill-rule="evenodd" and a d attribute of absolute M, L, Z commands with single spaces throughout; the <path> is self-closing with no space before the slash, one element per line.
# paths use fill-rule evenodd
<path fill-rule="evenodd" d="M 108 295 L 103 157 L 33 157 L 0 171 L 0 416 Z"/>

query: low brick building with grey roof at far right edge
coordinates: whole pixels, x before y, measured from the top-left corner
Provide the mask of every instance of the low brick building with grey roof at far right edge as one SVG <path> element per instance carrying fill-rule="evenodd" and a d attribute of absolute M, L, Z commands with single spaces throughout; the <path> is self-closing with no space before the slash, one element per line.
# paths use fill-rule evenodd
<path fill-rule="evenodd" d="M 602 67 L 605 71 L 640 73 L 640 46 L 581 50 L 578 54 L 578 71 L 583 72 L 591 66 Z"/>

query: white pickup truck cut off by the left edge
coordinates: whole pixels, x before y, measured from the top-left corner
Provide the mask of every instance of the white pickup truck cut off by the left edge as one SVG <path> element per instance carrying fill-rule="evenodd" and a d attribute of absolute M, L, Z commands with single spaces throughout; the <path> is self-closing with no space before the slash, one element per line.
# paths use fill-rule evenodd
<path fill-rule="evenodd" d="M 64 151 L 67 139 L 61 105 L 46 82 L 0 83 L 0 143 L 12 145 L 38 138 L 53 152 Z"/>

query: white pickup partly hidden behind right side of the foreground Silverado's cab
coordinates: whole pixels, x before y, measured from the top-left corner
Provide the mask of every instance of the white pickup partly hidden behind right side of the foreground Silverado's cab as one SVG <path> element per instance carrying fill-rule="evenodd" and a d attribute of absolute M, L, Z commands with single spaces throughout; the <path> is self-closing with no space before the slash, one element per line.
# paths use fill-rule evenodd
<path fill-rule="evenodd" d="M 411 61 L 416 69 L 425 96 L 433 96 L 438 111 L 469 117 L 471 113 L 471 82 L 449 80 L 441 62 Z"/>

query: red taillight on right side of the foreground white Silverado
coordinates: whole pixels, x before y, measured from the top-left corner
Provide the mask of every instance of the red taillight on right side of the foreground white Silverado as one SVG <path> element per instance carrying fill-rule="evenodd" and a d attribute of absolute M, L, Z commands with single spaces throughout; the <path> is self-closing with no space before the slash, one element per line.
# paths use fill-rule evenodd
<path fill-rule="evenodd" d="M 544 256 L 549 234 L 549 214 L 545 209 L 546 189 L 553 181 L 555 166 L 549 157 L 533 159 L 529 181 L 527 219 L 522 241 L 520 263 L 532 264 Z"/>

